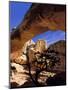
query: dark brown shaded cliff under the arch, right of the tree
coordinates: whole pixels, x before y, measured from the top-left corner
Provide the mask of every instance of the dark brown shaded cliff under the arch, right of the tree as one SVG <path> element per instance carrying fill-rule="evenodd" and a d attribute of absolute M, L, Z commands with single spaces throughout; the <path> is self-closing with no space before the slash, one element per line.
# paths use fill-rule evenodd
<path fill-rule="evenodd" d="M 56 64 L 56 66 L 53 68 L 54 70 L 58 70 L 59 72 L 65 72 L 65 63 L 66 63 L 66 42 L 61 40 L 59 42 L 56 42 L 55 44 L 51 45 L 48 48 L 48 51 L 54 50 L 55 52 L 58 52 L 58 56 L 60 58 L 60 63 Z"/>

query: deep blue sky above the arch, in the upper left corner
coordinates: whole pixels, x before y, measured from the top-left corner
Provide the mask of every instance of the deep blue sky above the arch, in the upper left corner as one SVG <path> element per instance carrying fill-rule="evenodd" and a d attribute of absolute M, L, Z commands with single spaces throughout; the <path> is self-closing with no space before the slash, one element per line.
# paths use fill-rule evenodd
<path fill-rule="evenodd" d="M 32 3 L 25 2 L 9 2 L 10 31 L 12 28 L 17 27 L 21 23 L 31 4 Z"/>

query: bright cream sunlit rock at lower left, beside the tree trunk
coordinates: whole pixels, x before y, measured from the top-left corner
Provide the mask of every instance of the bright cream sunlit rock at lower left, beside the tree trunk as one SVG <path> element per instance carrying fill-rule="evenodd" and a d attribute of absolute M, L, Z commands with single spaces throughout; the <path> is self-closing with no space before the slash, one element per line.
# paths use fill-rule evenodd
<path fill-rule="evenodd" d="M 14 67 L 15 70 L 11 71 L 10 82 L 17 83 L 17 86 L 24 84 L 28 78 L 28 75 L 25 74 L 27 71 L 24 67 L 16 63 L 11 63 L 11 67 Z"/>

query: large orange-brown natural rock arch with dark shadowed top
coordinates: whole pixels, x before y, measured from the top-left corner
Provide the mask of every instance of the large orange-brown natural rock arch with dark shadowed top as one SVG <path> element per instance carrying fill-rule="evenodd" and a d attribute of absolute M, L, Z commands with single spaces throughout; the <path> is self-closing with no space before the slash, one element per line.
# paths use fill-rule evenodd
<path fill-rule="evenodd" d="M 24 21 L 11 33 L 11 52 L 18 51 L 34 36 L 49 30 L 65 31 L 65 5 L 32 4 Z"/>

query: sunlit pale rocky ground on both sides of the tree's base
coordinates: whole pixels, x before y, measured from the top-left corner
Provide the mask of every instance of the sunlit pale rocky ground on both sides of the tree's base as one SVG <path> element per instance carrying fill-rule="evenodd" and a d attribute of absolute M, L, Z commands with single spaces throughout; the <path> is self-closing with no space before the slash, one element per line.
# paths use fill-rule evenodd
<path fill-rule="evenodd" d="M 31 81 L 31 78 L 28 75 L 29 71 L 24 69 L 24 66 L 22 65 L 16 63 L 11 63 L 11 65 L 15 67 L 15 70 L 11 71 L 11 76 L 10 76 L 11 87 L 12 88 L 21 87 L 21 86 L 24 87 L 24 84 L 26 84 L 25 87 L 32 86 L 33 82 Z M 35 74 L 35 71 L 31 71 L 31 74 L 33 76 Z M 38 81 L 39 83 L 41 83 L 41 85 L 47 85 L 46 84 L 47 78 L 53 77 L 55 74 L 56 73 L 51 73 L 46 71 L 41 72 Z M 16 86 L 14 83 L 16 83 Z"/>

